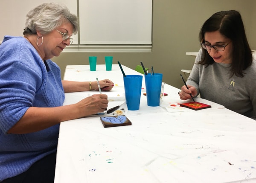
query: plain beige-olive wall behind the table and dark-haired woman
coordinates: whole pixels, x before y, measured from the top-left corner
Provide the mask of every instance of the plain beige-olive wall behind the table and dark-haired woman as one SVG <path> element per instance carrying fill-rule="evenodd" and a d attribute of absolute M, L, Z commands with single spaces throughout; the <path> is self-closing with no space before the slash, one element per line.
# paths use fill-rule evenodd
<path fill-rule="evenodd" d="M 88 64 L 90 55 L 98 57 L 98 64 L 104 64 L 104 56 L 112 55 L 114 64 L 120 61 L 132 69 L 142 61 L 145 67 L 153 66 L 155 73 L 163 73 L 163 81 L 180 88 L 180 70 L 192 69 L 195 59 L 185 53 L 198 52 L 201 25 L 213 13 L 230 9 L 241 13 L 250 46 L 256 49 L 254 0 L 153 0 L 152 52 L 63 52 L 52 60 L 61 67 L 62 76 L 66 65 Z"/>

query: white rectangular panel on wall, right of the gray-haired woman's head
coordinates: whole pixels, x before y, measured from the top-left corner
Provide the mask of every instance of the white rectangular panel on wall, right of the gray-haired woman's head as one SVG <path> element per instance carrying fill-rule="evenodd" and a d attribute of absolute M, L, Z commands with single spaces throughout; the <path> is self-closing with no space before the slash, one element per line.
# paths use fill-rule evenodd
<path fill-rule="evenodd" d="M 152 0 L 80 0 L 80 44 L 151 44 Z"/>

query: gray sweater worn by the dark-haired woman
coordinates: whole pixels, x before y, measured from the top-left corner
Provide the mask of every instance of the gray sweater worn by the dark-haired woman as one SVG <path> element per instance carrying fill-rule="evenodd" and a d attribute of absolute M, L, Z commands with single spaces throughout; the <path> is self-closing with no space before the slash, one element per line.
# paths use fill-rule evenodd
<path fill-rule="evenodd" d="M 195 63 L 201 60 L 198 52 Z M 256 117 L 256 58 L 244 70 L 244 77 L 230 78 L 230 64 L 194 64 L 186 84 L 194 86 L 201 98 L 224 105 L 237 113 L 255 119 Z"/>

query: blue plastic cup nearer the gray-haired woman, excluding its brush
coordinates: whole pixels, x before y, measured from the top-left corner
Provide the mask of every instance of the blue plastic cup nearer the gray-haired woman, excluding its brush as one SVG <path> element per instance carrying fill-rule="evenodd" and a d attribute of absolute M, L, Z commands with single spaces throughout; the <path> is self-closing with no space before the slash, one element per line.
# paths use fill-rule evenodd
<path fill-rule="evenodd" d="M 128 110 L 140 109 L 142 78 L 140 75 L 126 75 L 124 77 L 125 100 Z"/>

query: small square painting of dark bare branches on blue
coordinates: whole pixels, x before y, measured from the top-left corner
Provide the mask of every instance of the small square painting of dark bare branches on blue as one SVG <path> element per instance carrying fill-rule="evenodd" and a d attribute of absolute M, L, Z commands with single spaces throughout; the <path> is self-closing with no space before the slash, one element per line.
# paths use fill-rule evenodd
<path fill-rule="evenodd" d="M 102 116 L 100 117 L 104 128 L 114 127 L 114 126 L 125 126 L 131 125 L 131 121 L 125 116 Z"/>

